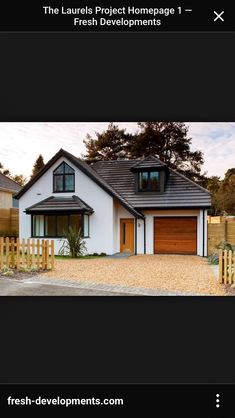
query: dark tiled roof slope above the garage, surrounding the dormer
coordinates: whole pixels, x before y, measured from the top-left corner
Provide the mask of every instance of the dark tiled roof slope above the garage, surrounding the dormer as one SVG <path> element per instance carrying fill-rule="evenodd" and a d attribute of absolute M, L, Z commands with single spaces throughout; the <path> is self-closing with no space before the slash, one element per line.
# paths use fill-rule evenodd
<path fill-rule="evenodd" d="M 136 167 L 136 160 L 100 161 L 92 168 L 137 210 L 210 207 L 207 190 L 171 169 L 164 193 L 135 193 L 135 174 L 131 171 L 134 164 Z"/>

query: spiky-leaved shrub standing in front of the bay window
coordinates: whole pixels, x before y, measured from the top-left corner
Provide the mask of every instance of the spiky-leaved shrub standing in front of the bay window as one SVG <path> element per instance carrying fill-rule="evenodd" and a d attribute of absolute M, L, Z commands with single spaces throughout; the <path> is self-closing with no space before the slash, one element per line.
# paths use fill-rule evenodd
<path fill-rule="evenodd" d="M 61 241 L 63 243 L 59 249 L 59 255 L 70 255 L 72 258 L 78 258 L 87 251 L 81 229 L 77 231 L 70 226 L 68 232 L 64 232 L 64 238 Z"/>

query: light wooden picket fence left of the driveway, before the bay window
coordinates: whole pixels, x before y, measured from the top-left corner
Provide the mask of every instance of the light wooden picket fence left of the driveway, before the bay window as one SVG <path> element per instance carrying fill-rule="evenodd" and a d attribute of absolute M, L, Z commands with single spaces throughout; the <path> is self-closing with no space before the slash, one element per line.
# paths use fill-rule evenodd
<path fill-rule="evenodd" d="M 54 241 L 0 238 L 0 269 L 54 269 Z"/>

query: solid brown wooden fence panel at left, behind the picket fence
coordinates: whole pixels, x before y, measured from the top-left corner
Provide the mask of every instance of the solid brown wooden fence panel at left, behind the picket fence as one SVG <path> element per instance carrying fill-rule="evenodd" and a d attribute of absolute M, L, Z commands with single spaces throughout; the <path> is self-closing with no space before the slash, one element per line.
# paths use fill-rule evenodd
<path fill-rule="evenodd" d="M 0 208 L 0 235 L 19 235 L 19 209 Z"/>

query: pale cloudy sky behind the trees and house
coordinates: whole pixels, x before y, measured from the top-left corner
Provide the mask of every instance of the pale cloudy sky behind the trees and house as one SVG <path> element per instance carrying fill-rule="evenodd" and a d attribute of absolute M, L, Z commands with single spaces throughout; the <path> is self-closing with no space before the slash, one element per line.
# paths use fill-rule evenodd
<path fill-rule="evenodd" d="M 115 123 L 127 132 L 138 129 L 136 122 Z M 202 171 L 223 178 L 229 168 L 235 167 L 235 122 L 186 122 L 186 125 L 192 138 L 191 149 L 204 154 Z M 47 162 L 64 148 L 79 157 L 85 153 L 83 140 L 87 133 L 94 137 L 95 132 L 102 132 L 107 126 L 108 122 L 1 122 L 0 162 L 12 174 L 29 178 L 39 154 Z"/>

